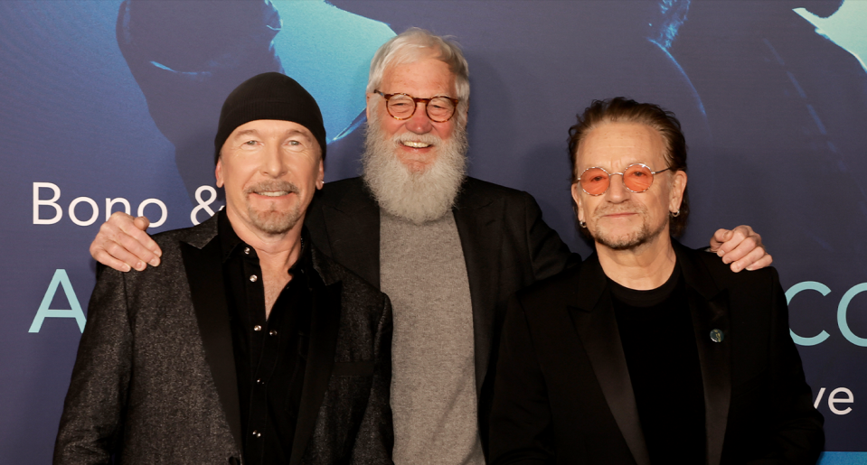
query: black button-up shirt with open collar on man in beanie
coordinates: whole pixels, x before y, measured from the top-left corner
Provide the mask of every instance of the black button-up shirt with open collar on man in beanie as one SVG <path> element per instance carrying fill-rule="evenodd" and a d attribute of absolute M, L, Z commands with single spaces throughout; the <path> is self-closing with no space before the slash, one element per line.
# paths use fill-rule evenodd
<path fill-rule="evenodd" d="M 245 244 L 224 212 L 219 219 L 222 272 L 231 319 L 238 377 L 244 461 L 288 463 L 301 403 L 312 308 L 309 277 L 316 273 L 309 240 L 289 269 L 292 279 L 265 318 L 259 256 Z"/>

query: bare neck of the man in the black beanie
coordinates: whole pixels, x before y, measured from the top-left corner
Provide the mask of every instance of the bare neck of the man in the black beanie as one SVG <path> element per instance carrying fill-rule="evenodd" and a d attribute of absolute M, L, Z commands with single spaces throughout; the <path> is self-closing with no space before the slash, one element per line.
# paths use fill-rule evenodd
<path fill-rule="evenodd" d="M 259 256 L 259 265 L 265 269 L 288 269 L 297 262 L 301 255 L 301 228 L 304 225 L 304 216 L 298 219 L 297 224 L 288 231 L 280 234 L 269 234 L 258 228 L 253 228 L 246 223 L 233 209 L 226 209 L 231 228 L 240 240 L 256 249 Z"/>

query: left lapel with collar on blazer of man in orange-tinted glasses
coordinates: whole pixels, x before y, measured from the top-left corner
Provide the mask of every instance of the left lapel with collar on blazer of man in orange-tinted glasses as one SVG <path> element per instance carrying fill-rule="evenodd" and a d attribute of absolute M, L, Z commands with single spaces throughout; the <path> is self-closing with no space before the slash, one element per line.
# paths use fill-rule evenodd
<path fill-rule="evenodd" d="M 650 465 L 627 359 L 607 289 L 605 273 L 598 256 L 593 254 L 581 265 L 579 289 L 570 314 L 629 451 L 638 465 Z"/>

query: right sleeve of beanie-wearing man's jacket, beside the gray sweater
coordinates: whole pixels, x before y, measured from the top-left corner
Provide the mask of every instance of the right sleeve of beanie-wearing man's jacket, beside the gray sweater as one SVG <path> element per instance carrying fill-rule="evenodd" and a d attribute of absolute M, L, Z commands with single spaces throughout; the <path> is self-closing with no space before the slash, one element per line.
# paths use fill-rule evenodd
<path fill-rule="evenodd" d="M 382 294 L 382 316 L 373 340 L 371 395 L 353 446 L 353 463 L 391 464 L 394 427 L 391 422 L 391 301 Z"/>

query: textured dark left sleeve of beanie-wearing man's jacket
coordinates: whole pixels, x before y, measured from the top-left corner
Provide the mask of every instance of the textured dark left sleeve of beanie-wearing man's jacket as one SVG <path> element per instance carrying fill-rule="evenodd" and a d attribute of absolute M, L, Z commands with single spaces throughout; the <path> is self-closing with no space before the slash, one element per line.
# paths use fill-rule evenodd
<path fill-rule="evenodd" d="M 123 435 L 131 372 L 126 277 L 99 273 L 54 444 L 54 464 L 108 463 Z"/>

